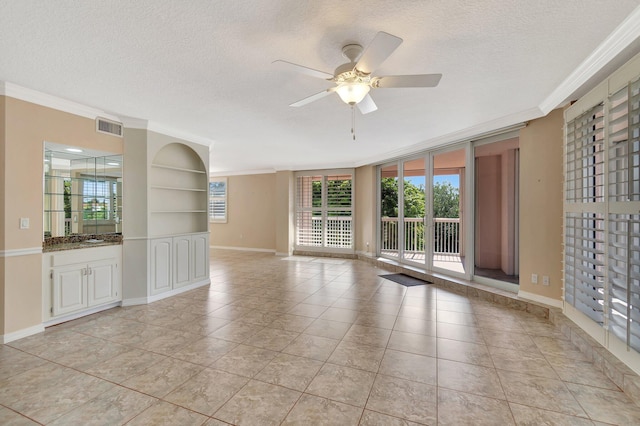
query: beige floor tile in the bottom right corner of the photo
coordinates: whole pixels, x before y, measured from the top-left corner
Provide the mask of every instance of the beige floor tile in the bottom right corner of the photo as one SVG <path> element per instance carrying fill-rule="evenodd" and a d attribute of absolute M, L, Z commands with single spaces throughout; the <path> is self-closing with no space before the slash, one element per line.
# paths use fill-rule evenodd
<path fill-rule="evenodd" d="M 623 392 L 574 383 L 567 383 L 567 387 L 592 420 L 619 425 L 640 424 L 640 407 Z"/>

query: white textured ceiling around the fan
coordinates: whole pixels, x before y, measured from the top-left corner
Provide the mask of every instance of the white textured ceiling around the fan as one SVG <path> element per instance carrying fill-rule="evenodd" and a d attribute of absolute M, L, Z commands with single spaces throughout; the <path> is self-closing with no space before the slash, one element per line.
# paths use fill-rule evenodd
<path fill-rule="evenodd" d="M 639 5 L 0 0 L 0 81 L 210 139 L 212 172 L 354 166 L 535 118 L 583 93 L 606 64 L 578 86 L 565 80 Z M 333 72 L 343 45 L 366 46 L 378 31 L 404 43 L 375 74 L 442 73 L 440 85 L 372 91 L 379 109 L 356 113 L 356 141 L 337 96 L 288 106 L 330 83 L 274 60 Z M 618 62 L 640 51 L 637 38 L 619 44 Z"/>

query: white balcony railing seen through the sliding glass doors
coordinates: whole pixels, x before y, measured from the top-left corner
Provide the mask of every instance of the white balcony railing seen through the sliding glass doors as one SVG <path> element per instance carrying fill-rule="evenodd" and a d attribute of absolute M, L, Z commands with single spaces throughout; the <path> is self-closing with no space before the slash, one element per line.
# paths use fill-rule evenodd
<path fill-rule="evenodd" d="M 419 217 L 405 218 L 403 231 L 404 253 L 424 253 L 424 220 Z M 381 237 L 381 251 L 398 251 L 397 217 L 383 217 L 381 219 Z M 459 218 L 433 219 L 433 252 L 434 254 L 460 255 Z"/>

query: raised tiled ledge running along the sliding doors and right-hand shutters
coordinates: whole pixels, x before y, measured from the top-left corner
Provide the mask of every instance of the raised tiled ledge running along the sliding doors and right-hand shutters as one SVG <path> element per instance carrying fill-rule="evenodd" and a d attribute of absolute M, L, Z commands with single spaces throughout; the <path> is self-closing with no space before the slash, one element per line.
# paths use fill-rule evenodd
<path fill-rule="evenodd" d="M 532 315 L 549 319 L 556 329 L 566 336 L 592 363 L 613 381 L 626 395 L 640 406 L 640 376 L 626 364 L 616 358 L 600 343 L 589 336 L 576 323 L 567 318 L 561 309 L 545 306 L 519 298 L 517 294 L 500 290 L 483 284 L 473 283 L 464 279 L 449 277 L 442 274 L 428 274 L 419 268 L 403 265 L 393 260 L 376 258 L 363 254 L 336 255 L 316 252 L 295 252 L 295 255 L 315 257 L 340 257 L 358 259 L 393 273 L 402 273 L 414 278 L 433 282 L 434 285 L 467 297 L 477 297 L 481 300 L 496 303 L 510 309 L 526 311 Z"/>

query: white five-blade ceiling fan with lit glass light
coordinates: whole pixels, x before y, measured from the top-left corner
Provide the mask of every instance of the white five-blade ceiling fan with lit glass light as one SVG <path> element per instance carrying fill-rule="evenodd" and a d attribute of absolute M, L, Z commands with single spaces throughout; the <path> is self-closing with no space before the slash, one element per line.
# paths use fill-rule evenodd
<path fill-rule="evenodd" d="M 369 94 L 371 89 L 435 87 L 440 82 L 442 74 L 389 75 L 382 77 L 371 75 L 391 56 L 401 43 L 401 38 L 380 31 L 364 50 L 359 44 L 347 44 L 342 48 L 342 55 L 349 62 L 340 65 L 333 74 L 282 60 L 277 60 L 273 63 L 282 68 L 294 69 L 311 77 L 322 78 L 335 83 L 335 86 L 294 102 L 290 106 L 301 107 L 336 92 L 344 103 L 351 106 L 357 105 L 362 114 L 368 114 L 378 109 Z"/>

